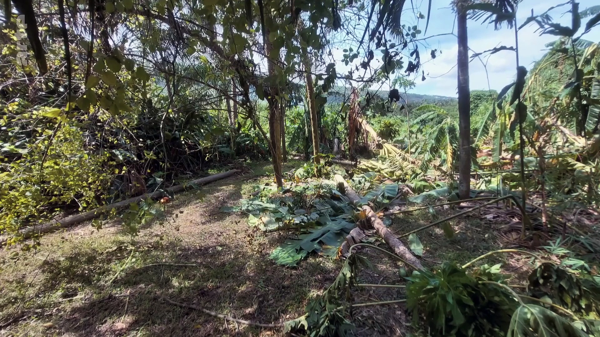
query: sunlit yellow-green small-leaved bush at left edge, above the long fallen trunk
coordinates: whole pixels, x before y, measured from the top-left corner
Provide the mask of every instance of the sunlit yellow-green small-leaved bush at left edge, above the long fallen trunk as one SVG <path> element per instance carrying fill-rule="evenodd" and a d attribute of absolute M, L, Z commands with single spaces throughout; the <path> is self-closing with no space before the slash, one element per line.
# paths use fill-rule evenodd
<path fill-rule="evenodd" d="M 42 108 L 20 116 L 58 118 L 60 113 Z M 4 118 L 6 123 L 7 115 Z M 24 225 L 49 220 L 65 204 L 79 210 L 97 206 L 101 200 L 97 195 L 106 191 L 112 174 L 119 171 L 115 166 L 116 172 L 104 169 L 110 154 L 82 151 L 85 138 L 79 128 L 67 122 L 48 123 L 56 123 L 55 130 L 35 125 L 32 139 L 20 139 L 11 128 L 16 139 L 1 144 L 0 233 L 16 235 Z"/>

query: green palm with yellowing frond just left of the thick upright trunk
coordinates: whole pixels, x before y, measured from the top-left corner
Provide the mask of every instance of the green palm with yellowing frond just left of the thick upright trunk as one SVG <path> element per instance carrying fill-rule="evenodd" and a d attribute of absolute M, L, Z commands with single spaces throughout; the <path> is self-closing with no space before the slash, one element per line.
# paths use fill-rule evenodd
<path fill-rule="evenodd" d="M 456 152 L 458 149 L 458 130 L 460 129 L 460 125 L 457 113 L 449 113 L 434 104 L 425 104 L 416 108 L 414 112 L 422 112 L 423 114 L 416 118 L 413 124 L 433 126 L 431 136 L 426 138 L 424 145 L 421 147 L 420 152 L 424 155 L 424 160 L 420 167 L 421 171 L 427 171 L 433 160 L 441 158 L 442 163 L 440 164 L 445 165 L 448 173 L 451 173 L 454 171 L 454 162 L 456 161 Z"/>

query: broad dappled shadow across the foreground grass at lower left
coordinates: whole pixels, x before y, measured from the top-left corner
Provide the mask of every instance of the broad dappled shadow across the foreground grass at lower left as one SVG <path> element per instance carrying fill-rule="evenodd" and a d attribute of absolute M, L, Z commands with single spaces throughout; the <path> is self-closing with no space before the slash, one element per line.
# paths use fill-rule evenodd
<path fill-rule="evenodd" d="M 174 251 L 167 244 L 134 253 L 130 266 L 116 278 L 114 264 L 106 263 L 106 254 L 93 249 L 46 263 L 47 281 L 60 280 L 92 294 L 55 317 L 56 332 L 82 337 L 133 332 L 136 336 L 204 336 L 224 329 L 225 335 L 236 331 L 253 335 L 252 327 L 226 325 L 160 297 L 242 320 L 281 323 L 301 314 L 311 291 L 326 287 L 335 277 L 317 277 L 332 274 L 317 258 L 305 261 L 301 269 L 285 269 L 268 260 L 266 252 L 253 254 L 244 246 Z"/>

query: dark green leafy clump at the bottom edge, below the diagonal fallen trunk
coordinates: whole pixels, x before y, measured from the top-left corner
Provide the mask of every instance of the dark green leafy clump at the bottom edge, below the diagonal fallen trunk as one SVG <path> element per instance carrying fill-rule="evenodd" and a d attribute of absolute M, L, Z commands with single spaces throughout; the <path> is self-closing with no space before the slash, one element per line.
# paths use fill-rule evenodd
<path fill-rule="evenodd" d="M 467 273 L 448 262 L 414 272 L 406 286 L 413 325 L 424 317 L 431 336 L 503 336 L 517 302 L 503 288 L 481 283 L 503 282 L 506 276 L 499 272 L 499 264 Z"/>

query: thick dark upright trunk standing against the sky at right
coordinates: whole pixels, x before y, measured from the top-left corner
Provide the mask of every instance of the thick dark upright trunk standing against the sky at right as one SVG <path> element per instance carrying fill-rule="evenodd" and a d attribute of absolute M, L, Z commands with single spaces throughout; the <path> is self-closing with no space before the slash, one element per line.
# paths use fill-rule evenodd
<path fill-rule="evenodd" d="M 460 151 L 458 165 L 458 195 L 468 199 L 471 181 L 471 112 L 469 91 L 469 45 L 467 42 L 466 2 L 459 1 L 458 12 L 458 128 Z"/>

